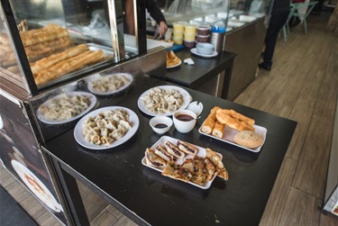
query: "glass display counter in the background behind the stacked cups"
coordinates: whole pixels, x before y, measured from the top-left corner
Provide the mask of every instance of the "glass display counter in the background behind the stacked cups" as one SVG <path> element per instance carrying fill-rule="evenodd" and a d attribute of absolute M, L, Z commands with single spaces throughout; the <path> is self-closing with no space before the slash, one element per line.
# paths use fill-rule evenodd
<path fill-rule="evenodd" d="M 164 14 L 169 24 L 184 21 L 215 26 L 224 23 L 232 31 L 269 14 L 273 0 L 189 0 L 166 2 Z M 169 3 L 170 2 L 170 3 Z"/>

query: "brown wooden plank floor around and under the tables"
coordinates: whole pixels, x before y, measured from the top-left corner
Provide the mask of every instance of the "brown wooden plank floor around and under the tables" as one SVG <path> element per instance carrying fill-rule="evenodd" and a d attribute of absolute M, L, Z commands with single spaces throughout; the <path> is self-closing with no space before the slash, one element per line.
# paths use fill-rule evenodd
<path fill-rule="evenodd" d="M 338 94 L 338 37 L 325 30 L 329 14 L 311 15 L 279 38 L 272 70 L 257 78 L 234 102 L 297 121 L 261 225 L 338 225 L 320 208 Z M 0 183 L 41 225 L 61 225 L 4 169 Z M 79 185 L 92 225 L 135 225 L 114 207 Z"/>

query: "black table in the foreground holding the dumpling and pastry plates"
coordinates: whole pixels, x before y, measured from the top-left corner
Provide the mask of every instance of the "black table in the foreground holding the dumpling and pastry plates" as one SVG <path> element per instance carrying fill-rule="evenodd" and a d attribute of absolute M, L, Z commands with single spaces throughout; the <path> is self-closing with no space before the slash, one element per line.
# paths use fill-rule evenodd
<path fill-rule="evenodd" d="M 163 85 L 172 84 L 159 80 L 154 86 Z M 139 225 L 258 225 L 297 122 L 185 87 L 194 101 L 204 105 L 201 118 L 193 131 L 180 133 L 173 126 L 163 135 L 223 155 L 229 180 L 216 176 L 210 188 L 202 189 L 142 165 L 144 151 L 163 136 L 151 130 L 151 116 L 137 105 L 147 89 L 131 93 L 119 103 L 112 100 L 110 104 L 108 99 L 100 105 L 123 106 L 137 114 L 139 128 L 123 144 L 112 149 L 86 149 L 78 144 L 71 129 L 42 145 L 65 196 L 63 204 L 69 210 L 69 221 L 89 224 L 77 179 Z M 214 106 L 233 109 L 266 128 L 260 151 L 201 134 L 198 129 Z"/>

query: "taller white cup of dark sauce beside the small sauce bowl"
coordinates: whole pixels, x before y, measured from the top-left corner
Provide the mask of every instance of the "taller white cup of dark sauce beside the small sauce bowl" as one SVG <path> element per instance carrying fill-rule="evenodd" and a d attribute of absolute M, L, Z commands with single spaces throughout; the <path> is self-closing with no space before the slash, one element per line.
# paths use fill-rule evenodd
<path fill-rule="evenodd" d="M 196 113 L 189 110 L 178 110 L 172 115 L 176 130 L 181 133 L 192 131 L 196 125 Z"/>

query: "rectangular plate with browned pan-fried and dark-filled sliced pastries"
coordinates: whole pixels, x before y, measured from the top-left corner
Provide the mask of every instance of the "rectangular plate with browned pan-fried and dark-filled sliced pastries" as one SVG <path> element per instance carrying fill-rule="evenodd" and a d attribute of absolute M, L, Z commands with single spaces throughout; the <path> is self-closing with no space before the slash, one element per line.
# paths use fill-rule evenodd
<path fill-rule="evenodd" d="M 162 176 L 208 189 L 215 176 L 228 180 L 222 154 L 184 140 L 163 136 L 147 148 L 142 164 L 160 171 Z"/>

